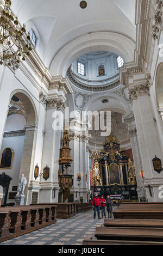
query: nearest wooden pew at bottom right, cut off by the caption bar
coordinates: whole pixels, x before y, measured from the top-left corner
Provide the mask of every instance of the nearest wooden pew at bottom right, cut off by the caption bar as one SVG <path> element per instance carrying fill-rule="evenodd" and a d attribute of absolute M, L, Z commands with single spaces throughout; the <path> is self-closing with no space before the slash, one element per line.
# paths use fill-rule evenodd
<path fill-rule="evenodd" d="M 101 246 L 101 245 L 162 245 L 162 242 L 149 241 L 123 241 L 123 240 L 95 240 L 92 236 L 87 236 L 83 240 L 83 245 L 86 246 Z"/>

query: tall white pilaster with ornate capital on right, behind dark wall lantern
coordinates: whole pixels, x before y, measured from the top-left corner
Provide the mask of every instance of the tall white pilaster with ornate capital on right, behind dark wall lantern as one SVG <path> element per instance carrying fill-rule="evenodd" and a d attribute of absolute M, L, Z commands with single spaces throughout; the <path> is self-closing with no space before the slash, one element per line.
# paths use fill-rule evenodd
<path fill-rule="evenodd" d="M 134 88 L 130 89 L 130 97 L 133 100 L 142 169 L 145 174 L 144 187 L 148 201 L 155 202 L 161 200 L 158 197 L 158 188 L 163 182 L 163 172 L 160 174 L 155 172 L 152 162 L 155 155 L 161 159 L 162 162 L 162 154 L 151 99 L 149 97 L 149 79 L 147 78 L 145 83 L 136 85 Z M 152 196 L 149 193 L 148 185 L 151 186 Z"/>

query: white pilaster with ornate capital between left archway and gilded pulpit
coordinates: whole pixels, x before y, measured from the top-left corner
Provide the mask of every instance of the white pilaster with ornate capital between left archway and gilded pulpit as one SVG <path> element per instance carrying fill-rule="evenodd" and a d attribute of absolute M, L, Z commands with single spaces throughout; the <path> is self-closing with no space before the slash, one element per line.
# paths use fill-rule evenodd
<path fill-rule="evenodd" d="M 46 111 L 46 127 L 45 137 L 43 141 L 43 154 L 42 154 L 42 166 L 46 167 L 46 164 L 50 168 L 49 179 L 47 181 L 41 176 L 41 190 L 40 190 L 40 203 L 56 203 L 58 202 L 58 170 L 59 170 L 59 156 L 61 148 L 61 130 L 57 130 L 53 113 L 57 118 L 59 117 L 61 129 L 64 125 L 64 103 L 58 103 L 56 99 L 48 100 Z M 54 122 L 54 123 L 53 123 Z M 55 188 L 55 198 L 53 191 Z"/>

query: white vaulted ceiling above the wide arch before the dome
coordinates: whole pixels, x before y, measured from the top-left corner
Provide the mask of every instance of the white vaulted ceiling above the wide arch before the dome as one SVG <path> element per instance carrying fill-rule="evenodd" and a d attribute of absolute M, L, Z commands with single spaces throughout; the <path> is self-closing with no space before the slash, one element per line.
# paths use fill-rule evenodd
<path fill-rule="evenodd" d="M 33 27 L 45 65 L 68 42 L 89 32 L 116 32 L 135 41 L 135 0 L 13 0 L 11 8 L 27 30 Z M 123 2 L 123 4 L 122 4 Z M 102 49 L 101 49 L 102 50 Z"/>

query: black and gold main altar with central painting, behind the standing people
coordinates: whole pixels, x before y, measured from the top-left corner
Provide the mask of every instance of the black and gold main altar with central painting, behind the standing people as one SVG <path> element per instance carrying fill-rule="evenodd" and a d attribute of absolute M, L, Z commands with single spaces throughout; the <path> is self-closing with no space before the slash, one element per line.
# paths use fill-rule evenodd
<path fill-rule="evenodd" d="M 134 163 L 126 156 L 115 136 L 106 137 L 103 150 L 94 152 L 93 192 L 115 199 L 137 200 Z"/>

